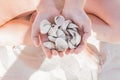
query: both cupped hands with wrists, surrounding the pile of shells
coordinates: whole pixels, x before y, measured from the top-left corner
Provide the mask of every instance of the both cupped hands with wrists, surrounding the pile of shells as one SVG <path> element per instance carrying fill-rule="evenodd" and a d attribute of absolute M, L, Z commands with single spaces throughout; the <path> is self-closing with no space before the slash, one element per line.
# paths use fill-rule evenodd
<path fill-rule="evenodd" d="M 77 5 L 77 6 L 70 6 L 71 2 L 73 2 L 73 5 Z M 90 20 L 83 10 L 84 2 L 85 2 L 85 0 L 70 0 L 70 1 L 65 0 L 64 7 L 63 7 L 62 11 L 60 12 L 56 8 L 53 0 L 41 1 L 41 3 L 39 4 L 39 7 L 38 7 L 38 14 L 32 25 L 32 39 L 34 41 L 34 44 L 36 46 L 42 45 L 42 43 L 45 42 L 47 39 L 47 35 L 40 34 L 40 28 L 39 28 L 40 22 L 43 19 L 48 19 L 52 22 L 54 20 L 53 19 L 54 16 L 61 14 L 64 17 L 66 17 L 67 19 L 71 19 L 72 21 L 74 21 L 74 23 L 76 23 L 79 26 L 79 30 L 81 30 L 80 34 L 82 36 L 82 41 L 81 41 L 81 44 L 78 46 L 78 48 L 76 48 L 74 50 L 67 50 L 64 52 L 56 51 L 56 52 L 61 57 L 63 56 L 64 53 L 69 54 L 69 53 L 75 52 L 76 54 L 78 54 L 85 47 L 86 40 L 90 36 L 90 30 L 91 30 Z M 80 5 L 80 7 L 78 7 L 79 5 Z M 74 10 L 74 13 L 73 13 L 73 10 Z M 50 11 L 52 11 L 52 12 L 50 12 Z M 48 58 L 51 58 L 55 52 L 55 50 L 54 51 L 49 50 L 49 49 L 45 48 L 43 45 L 42 45 L 42 48 Z"/>

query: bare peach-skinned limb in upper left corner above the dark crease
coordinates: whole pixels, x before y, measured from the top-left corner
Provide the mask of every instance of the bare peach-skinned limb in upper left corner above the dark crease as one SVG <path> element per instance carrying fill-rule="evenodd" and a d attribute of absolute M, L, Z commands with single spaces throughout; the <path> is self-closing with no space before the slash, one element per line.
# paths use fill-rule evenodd
<path fill-rule="evenodd" d="M 27 12 L 36 10 L 40 0 L 0 0 L 0 26 Z"/>

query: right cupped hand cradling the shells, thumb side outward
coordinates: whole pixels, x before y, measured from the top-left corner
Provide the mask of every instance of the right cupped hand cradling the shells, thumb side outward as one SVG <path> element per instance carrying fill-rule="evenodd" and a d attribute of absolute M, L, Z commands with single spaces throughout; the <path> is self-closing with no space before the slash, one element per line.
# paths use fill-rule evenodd
<path fill-rule="evenodd" d="M 91 21 L 84 10 L 76 5 L 71 6 L 71 4 L 66 4 L 63 8 L 62 15 L 79 26 L 79 33 L 82 36 L 80 45 L 76 49 L 66 51 L 66 54 L 78 54 L 85 48 L 87 39 L 91 34 Z"/>

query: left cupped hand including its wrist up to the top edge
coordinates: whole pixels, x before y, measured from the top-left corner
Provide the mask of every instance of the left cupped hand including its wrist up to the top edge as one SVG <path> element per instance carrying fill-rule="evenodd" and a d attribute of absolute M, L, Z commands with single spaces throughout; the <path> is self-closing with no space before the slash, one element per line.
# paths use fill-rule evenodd
<path fill-rule="evenodd" d="M 44 2 L 46 1 L 46 2 Z M 40 32 L 40 22 L 44 19 L 47 19 L 52 22 L 55 16 L 59 15 L 59 11 L 53 4 L 52 0 L 44 0 L 43 3 L 40 4 L 38 14 L 32 25 L 32 39 L 36 46 L 41 45 L 43 52 L 46 54 L 48 58 L 52 57 L 52 51 L 43 46 L 43 42 L 47 41 L 47 35 L 43 35 Z M 50 1 L 50 3 L 49 3 Z"/>

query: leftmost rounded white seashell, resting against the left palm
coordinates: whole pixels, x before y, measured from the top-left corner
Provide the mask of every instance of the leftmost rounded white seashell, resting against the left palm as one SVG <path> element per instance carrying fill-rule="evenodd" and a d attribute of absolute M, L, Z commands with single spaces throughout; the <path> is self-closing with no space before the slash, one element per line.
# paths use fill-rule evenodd
<path fill-rule="evenodd" d="M 49 29 L 51 28 L 51 23 L 48 20 L 42 20 L 40 23 L 40 32 L 42 34 L 48 33 Z"/>

